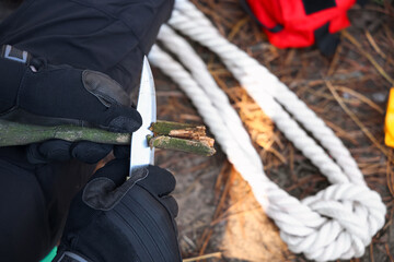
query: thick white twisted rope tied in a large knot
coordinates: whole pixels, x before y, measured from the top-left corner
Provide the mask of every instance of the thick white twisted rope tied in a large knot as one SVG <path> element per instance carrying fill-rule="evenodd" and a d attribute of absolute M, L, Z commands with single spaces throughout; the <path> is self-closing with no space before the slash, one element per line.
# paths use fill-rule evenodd
<path fill-rule="evenodd" d="M 318 167 L 332 186 L 300 202 L 271 182 L 228 97 L 190 45 L 172 28 L 216 52 L 265 114 Z M 229 160 L 280 228 L 289 249 L 316 261 L 361 257 L 384 224 L 385 206 L 380 195 L 366 186 L 349 151 L 324 121 L 266 68 L 222 37 L 187 0 L 176 1 L 159 40 L 184 66 L 158 46 L 149 55 L 151 62 L 192 99 Z"/>

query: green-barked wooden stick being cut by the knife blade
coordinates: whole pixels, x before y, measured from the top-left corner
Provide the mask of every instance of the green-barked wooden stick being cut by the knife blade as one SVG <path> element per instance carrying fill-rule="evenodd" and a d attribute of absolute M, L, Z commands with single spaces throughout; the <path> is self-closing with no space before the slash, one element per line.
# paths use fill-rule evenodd
<path fill-rule="evenodd" d="M 193 124 L 158 121 L 152 127 L 162 127 L 170 134 L 172 130 L 182 128 L 192 128 Z M 154 133 L 163 133 L 153 128 Z M 205 130 L 205 127 L 204 127 Z M 204 133 L 200 133 L 200 140 L 187 140 L 173 138 L 170 135 L 159 135 L 149 138 L 149 145 L 164 150 L 177 150 L 198 155 L 210 156 L 215 154 L 213 140 Z M 197 135 L 198 136 L 198 135 Z M 42 127 L 33 124 L 23 124 L 5 120 L 0 120 L 0 146 L 14 146 L 38 143 L 50 139 L 60 139 L 70 142 L 88 140 L 104 144 L 130 144 L 129 133 L 113 133 L 101 129 L 82 128 L 76 126 L 57 126 L 57 127 Z M 147 138 L 148 139 L 148 138 Z M 210 141 L 211 140 L 211 141 Z"/>

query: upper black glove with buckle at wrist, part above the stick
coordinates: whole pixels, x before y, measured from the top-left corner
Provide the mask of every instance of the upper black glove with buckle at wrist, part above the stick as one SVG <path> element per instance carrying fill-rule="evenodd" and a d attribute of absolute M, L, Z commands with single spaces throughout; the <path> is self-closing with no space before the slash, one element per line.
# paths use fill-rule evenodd
<path fill-rule="evenodd" d="M 0 72 L 2 119 L 129 133 L 141 126 L 129 96 L 106 74 L 47 64 L 8 45 L 0 55 Z"/>

